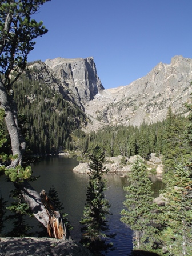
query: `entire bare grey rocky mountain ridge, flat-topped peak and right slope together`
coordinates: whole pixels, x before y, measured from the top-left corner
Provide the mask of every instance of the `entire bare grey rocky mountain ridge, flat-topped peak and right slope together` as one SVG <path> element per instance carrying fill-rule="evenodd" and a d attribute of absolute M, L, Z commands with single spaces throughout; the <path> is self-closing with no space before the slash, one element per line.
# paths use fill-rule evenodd
<path fill-rule="evenodd" d="M 130 85 L 105 90 L 93 57 L 47 59 L 29 66 L 36 80 L 60 91 L 63 98 L 81 107 L 90 122 L 85 131 L 106 125 L 139 126 L 185 113 L 192 92 L 192 59 L 175 56 L 170 64 L 159 63 L 145 77 Z"/>

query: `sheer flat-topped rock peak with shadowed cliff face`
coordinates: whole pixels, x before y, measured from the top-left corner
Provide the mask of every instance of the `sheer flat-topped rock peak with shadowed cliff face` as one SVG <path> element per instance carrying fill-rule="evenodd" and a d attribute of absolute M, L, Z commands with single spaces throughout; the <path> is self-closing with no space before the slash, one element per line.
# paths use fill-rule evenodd
<path fill-rule="evenodd" d="M 45 63 L 69 91 L 69 97 L 82 108 L 104 89 L 97 75 L 93 57 L 47 59 Z"/>

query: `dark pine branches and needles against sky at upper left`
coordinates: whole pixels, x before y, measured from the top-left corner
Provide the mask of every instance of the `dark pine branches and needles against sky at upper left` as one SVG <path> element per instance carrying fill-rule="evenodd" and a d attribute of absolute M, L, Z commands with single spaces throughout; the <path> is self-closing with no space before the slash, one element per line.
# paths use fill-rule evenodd
<path fill-rule="evenodd" d="M 3 1 L 0 6 L 0 71 L 5 74 L 7 89 L 13 85 L 8 75 L 12 70 L 21 74 L 27 55 L 34 49 L 34 39 L 47 33 L 42 21 L 31 19 L 39 6 L 49 0 Z M 16 78 L 17 79 L 17 78 Z M 3 81 L 5 83 L 5 81 Z"/>

